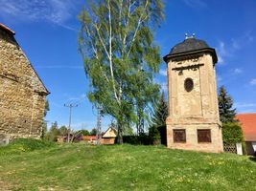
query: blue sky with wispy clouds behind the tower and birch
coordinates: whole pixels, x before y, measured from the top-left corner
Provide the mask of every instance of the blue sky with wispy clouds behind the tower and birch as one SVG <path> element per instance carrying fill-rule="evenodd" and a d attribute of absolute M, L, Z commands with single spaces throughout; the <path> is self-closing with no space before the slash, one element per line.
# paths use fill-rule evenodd
<path fill-rule="evenodd" d="M 78 53 L 77 15 L 86 1 L 0 0 L 0 22 L 16 32 L 15 38 L 51 92 L 49 123 L 68 124 L 64 103 L 78 103 L 72 126 L 96 126 L 97 111 L 86 98 L 88 80 Z M 165 0 L 166 19 L 155 32 L 161 55 L 169 53 L 184 33 L 196 33 L 217 50 L 218 86 L 233 96 L 239 113 L 256 112 L 256 1 Z M 166 90 L 166 65 L 155 76 Z M 104 117 L 105 129 L 110 117 Z"/>

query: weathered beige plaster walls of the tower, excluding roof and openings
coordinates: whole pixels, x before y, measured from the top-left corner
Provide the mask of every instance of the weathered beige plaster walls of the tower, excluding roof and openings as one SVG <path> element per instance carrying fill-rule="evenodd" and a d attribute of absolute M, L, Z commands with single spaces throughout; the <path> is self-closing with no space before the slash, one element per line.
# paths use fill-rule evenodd
<path fill-rule="evenodd" d="M 196 66 L 198 67 L 192 67 Z M 176 70 L 183 67 L 184 70 Z M 184 81 L 190 77 L 194 89 L 187 92 Z M 167 146 L 187 150 L 222 152 L 216 74 L 211 54 L 204 53 L 168 63 Z M 173 130 L 185 129 L 186 142 L 175 143 Z M 198 129 L 210 129 L 212 141 L 198 143 Z"/>

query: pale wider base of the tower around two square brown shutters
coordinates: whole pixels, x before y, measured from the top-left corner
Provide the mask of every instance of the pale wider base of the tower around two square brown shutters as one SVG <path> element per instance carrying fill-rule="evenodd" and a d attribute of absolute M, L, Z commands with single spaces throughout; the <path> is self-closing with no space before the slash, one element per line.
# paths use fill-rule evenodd
<path fill-rule="evenodd" d="M 181 131 L 177 131 L 181 130 Z M 185 141 L 176 141 L 176 132 L 183 133 L 185 130 Z M 198 131 L 199 130 L 199 131 Z M 200 130 L 210 131 L 210 141 L 198 142 L 198 132 Z M 213 124 L 167 124 L 167 147 L 172 149 L 193 150 L 209 153 L 223 152 L 221 126 Z"/>

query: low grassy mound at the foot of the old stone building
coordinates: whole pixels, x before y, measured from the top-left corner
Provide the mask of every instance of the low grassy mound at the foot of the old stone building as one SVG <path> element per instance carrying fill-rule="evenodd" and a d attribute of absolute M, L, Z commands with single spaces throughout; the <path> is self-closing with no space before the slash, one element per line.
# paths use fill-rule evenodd
<path fill-rule="evenodd" d="M 16 138 L 9 145 L 0 147 L 0 155 L 21 154 L 54 145 L 54 142 L 34 138 Z"/>

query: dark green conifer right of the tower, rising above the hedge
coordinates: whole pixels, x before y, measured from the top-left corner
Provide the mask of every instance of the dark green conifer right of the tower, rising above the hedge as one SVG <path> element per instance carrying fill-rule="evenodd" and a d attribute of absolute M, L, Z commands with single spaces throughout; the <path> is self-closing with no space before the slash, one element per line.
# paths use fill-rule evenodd
<path fill-rule="evenodd" d="M 218 100 L 221 122 L 236 122 L 236 109 L 232 109 L 233 99 L 223 86 L 220 88 Z"/>

